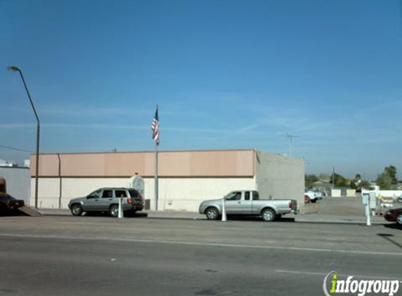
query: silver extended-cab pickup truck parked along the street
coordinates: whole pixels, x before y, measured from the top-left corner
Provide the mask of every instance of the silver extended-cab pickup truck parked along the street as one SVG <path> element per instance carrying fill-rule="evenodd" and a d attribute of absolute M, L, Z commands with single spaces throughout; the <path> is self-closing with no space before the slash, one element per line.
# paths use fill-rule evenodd
<path fill-rule="evenodd" d="M 267 222 L 288 213 L 299 213 L 294 199 L 260 199 L 257 191 L 232 191 L 223 199 L 203 201 L 199 213 L 205 214 L 208 220 L 217 220 L 222 214 L 223 202 L 227 214 L 261 216 Z"/>

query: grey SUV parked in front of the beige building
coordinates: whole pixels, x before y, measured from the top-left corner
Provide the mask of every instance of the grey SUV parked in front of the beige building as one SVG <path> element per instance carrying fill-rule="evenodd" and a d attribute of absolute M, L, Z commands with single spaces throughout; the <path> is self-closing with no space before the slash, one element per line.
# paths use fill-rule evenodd
<path fill-rule="evenodd" d="M 119 215 L 119 199 L 123 210 L 135 213 L 144 208 L 144 198 L 131 188 L 100 188 L 91 194 L 69 201 L 72 215 L 80 216 L 83 212 L 108 212 L 112 217 Z"/>

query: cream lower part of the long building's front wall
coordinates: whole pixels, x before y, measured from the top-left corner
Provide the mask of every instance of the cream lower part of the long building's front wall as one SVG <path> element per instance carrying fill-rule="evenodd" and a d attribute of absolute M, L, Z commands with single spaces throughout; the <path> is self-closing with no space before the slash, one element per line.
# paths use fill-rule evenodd
<path fill-rule="evenodd" d="M 100 187 L 127 187 L 129 178 L 46 177 L 39 179 L 39 208 L 67 208 L 70 199 L 86 196 Z M 145 177 L 145 199 L 154 209 L 154 178 Z M 34 189 L 34 178 L 32 178 Z M 159 178 L 159 210 L 198 211 L 201 201 L 220 199 L 229 191 L 255 189 L 255 177 L 161 177 Z M 34 204 L 32 190 L 31 204 Z"/>

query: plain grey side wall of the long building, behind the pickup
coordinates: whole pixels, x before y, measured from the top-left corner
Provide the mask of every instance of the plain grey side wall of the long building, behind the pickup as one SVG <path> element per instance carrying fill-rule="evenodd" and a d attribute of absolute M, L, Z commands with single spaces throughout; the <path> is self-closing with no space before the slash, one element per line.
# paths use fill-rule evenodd
<path fill-rule="evenodd" d="M 304 161 L 268 152 L 255 153 L 256 187 L 263 199 L 304 203 Z"/>

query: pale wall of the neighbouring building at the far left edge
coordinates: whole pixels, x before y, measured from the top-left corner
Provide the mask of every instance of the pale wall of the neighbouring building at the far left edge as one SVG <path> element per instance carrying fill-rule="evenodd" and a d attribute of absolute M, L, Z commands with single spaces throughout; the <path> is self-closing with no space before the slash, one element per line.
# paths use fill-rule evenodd
<path fill-rule="evenodd" d="M 29 169 L 15 167 L 0 167 L 0 176 L 7 182 L 7 194 L 15 199 L 29 201 Z"/>

